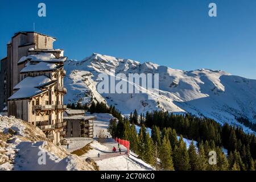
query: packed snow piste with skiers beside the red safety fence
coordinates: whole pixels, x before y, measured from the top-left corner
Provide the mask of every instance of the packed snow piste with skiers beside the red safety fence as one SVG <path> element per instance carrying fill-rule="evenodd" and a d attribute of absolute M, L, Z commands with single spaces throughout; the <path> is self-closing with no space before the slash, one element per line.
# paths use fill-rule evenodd
<path fill-rule="evenodd" d="M 86 114 L 88 115 L 88 114 Z M 129 158 L 127 157 L 127 149 L 120 145 L 121 154 L 119 154 L 118 143 L 111 138 L 107 129 L 109 126 L 109 120 L 114 118 L 111 114 L 97 113 L 92 114 L 96 116 L 94 121 L 94 141 L 90 143 L 90 146 L 93 148 L 89 150 L 86 154 L 82 155 L 82 159 L 92 158 L 100 167 L 100 170 L 106 171 L 144 171 L 144 170 L 154 170 L 150 165 L 144 163 L 142 160 L 137 158 L 133 152 Z M 109 138 L 98 139 L 99 131 L 103 131 L 105 135 L 108 135 Z M 117 153 L 113 153 L 113 147 L 117 148 Z M 100 154 L 100 158 L 98 158 Z"/>

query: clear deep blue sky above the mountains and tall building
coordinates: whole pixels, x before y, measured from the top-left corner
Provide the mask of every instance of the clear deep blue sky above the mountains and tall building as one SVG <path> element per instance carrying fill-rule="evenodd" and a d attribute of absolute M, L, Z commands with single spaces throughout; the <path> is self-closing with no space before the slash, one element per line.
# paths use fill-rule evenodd
<path fill-rule="evenodd" d="M 38 3 L 47 16 L 39 18 Z M 217 17 L 208 16 L 210 2 Z M 0 57 L 18 31 L 55 36 L 69 59 L 93 52 L 186 71 L 221 69 L 256 79 L 255 0 L 0 1 Z"/>

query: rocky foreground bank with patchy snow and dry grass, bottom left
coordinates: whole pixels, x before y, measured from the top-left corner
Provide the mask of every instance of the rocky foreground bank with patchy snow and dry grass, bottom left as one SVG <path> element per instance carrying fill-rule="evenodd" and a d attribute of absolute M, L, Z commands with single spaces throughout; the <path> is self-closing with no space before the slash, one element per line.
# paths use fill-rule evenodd
<path fill-rule="evenodd" d="M 48 142 L 43 131 L 14 117 L 0 116 L 0 171 L 86 170 L 93 167 Z"/>

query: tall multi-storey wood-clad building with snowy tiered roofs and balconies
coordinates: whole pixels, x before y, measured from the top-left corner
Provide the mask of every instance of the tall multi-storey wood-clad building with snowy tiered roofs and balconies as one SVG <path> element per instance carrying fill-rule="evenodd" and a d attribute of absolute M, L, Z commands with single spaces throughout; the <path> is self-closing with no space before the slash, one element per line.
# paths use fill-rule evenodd
<path fill-rule="evenodd" d="M 64 137 L 63 96 L 67 90 L 63 67 L 67 57 L 62 49 L 53 49 L 55 40 L 38 32 L 18 32 L 13 36 L 7 44 L 7 57 L 1 61 L 1 75 L 7 75 L 1 108 L 7 101 L 8 115 L 38 126 L 58 144 Z"/>

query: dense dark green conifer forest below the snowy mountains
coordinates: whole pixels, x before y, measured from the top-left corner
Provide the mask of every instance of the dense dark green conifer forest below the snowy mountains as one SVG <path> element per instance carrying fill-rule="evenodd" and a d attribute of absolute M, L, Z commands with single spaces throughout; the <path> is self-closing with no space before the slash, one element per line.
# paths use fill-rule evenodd
<path fill-rule="evenodd" d="M 135 124 L 141 129 L 137 134 Z M 152 129 L 151 137 L 146 127 Z M 135 110 L 129 119 L 110 121 L 113 137 L 130 141 L 130 148 L 145 162 L 163 170 L 254 170 L 255 135 L 245 134 L 241 128 L 213 119 L 193 115 L 174 115 L 154 111 L 139 117 Z M 180 139 L 177 139 L 180 135 Z M 196 140 L 187 148 L 183 137 Z M 228 157 L 222 151 L 228 149 Z M 215 151 L 217 164 L 208 162 L 209 151 Z M 157 159 L 160 159 L 158 162 Z"/>

